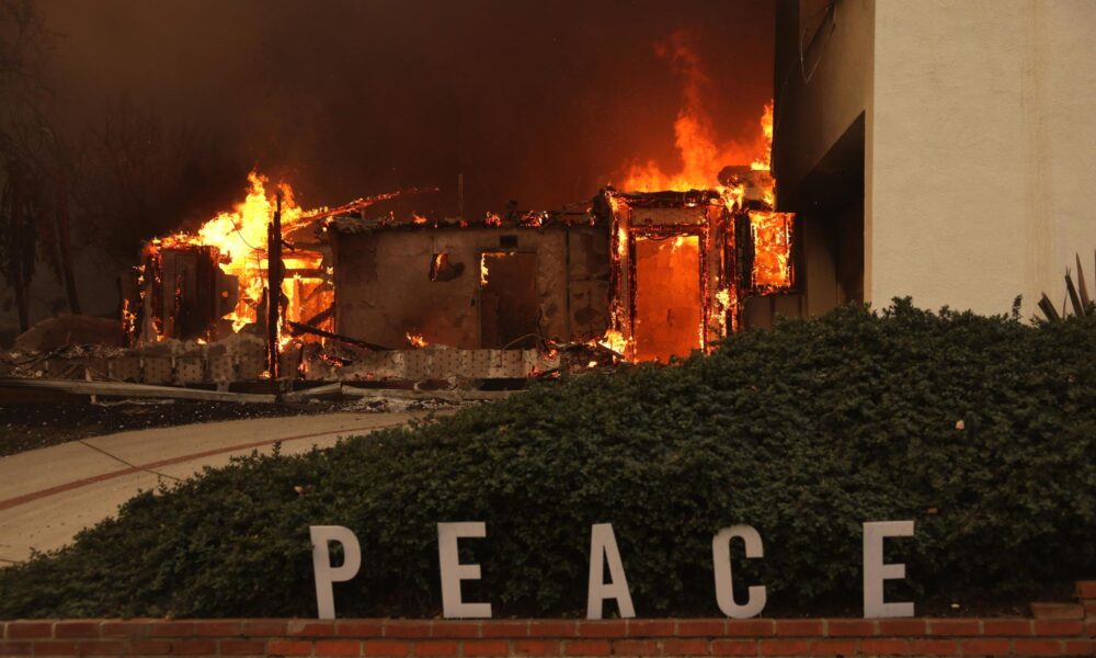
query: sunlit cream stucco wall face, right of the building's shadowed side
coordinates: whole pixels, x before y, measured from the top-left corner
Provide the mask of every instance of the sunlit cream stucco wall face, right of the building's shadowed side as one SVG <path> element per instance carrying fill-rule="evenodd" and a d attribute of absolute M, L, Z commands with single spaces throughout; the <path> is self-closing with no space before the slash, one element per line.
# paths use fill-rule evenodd
<path fill-rule="evenodd" d="M 1096 2 L 879 0 L 866 171 L 876 306 L 1024 313 L 1096 280 Z"/>

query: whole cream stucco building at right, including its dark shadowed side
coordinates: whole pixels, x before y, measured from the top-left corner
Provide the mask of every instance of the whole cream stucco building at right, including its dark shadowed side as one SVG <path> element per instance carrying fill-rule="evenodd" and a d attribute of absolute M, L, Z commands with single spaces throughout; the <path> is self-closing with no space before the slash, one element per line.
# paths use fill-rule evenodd
<path fill-rule="evenodd" d="M 773 172 L 806 310 L 1036 311 L 1096 249 L 1096 3 L 781 0 Z"/>

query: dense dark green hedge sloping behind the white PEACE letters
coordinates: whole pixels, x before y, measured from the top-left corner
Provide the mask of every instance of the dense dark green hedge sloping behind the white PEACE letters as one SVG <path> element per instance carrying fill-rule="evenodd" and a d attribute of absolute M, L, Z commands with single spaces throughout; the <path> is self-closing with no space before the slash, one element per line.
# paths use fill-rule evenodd
<path fill-rule="evenodd" d="M 770 609 L 858 601 L 861 523 L 880 520 L 916 521 L 888 542 L 895 595 L 1021 594 L 1096 576 L 1094 410 L 1094 318 L 842 308 L 141 495 L 0 571 L 0 617 L 313 616 L 310 524 L 362 543 L 341 615 L 433 616 L 438 521 L 487 522 L 463 543 L 483 565 L 466 600 L 495 616 L 581 613 L 598 522 L 640 616 L 718 614 L 710 542 L 733 523 L 762 534 L 735 569 Z"/>

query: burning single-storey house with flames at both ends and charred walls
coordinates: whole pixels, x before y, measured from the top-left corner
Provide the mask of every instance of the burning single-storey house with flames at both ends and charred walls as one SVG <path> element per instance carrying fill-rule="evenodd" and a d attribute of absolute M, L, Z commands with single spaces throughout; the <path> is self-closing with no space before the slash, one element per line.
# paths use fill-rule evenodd
<path fill-rule="evenodd" d="M 770 106 L 762 128 L 767 150 Z M 222 363 L 204 372 L 220 379 L 453 383 L 665 363 L 801 313 L 799 229 L 775 211 L 767 157 L 707 180 L 644 172 L 566 209 L 469 222 L 372 207 L 399 193 L 305 211 L 252 173 L 233 212 L 146 243 L 125 330 L 134 348 L 208 345 Z M 218 350 L 226 339 L 247 354 Z"/>

